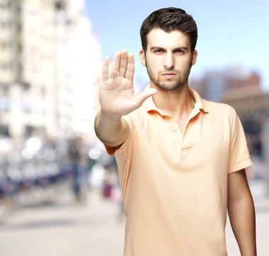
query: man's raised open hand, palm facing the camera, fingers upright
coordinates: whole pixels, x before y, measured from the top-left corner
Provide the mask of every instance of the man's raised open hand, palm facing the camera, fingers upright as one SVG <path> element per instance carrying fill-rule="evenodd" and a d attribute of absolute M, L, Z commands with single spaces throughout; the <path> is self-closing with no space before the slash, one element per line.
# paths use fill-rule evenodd
<path fill-rule="evenodd" d="M 116 52 L 111 71 L 109 58 L 105 57 L 102 69 L 102 83 L 99 91 L 101 112 L 103 115 L 119 119 L 137 109 L 144 100 L 156 93 L 148 88 L 139 95 L 134 92 L 135 61 L 126 50 Z"/>

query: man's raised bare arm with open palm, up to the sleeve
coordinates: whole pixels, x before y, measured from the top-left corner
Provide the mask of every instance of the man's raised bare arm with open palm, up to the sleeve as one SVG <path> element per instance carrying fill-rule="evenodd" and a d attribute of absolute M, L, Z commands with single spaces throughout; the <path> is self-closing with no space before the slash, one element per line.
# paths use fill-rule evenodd
<path fill-rule="evenodd" d="M 144 100 L 156 93 L 155 89 L 149 88 L 135 95 L 134 73 L 134 57 L 126 50 L 116 52 L 111 70 L 109 59 L 105 57 L 99 90 L 101 110 L 96 115 L 94 127 L 98 138 L 108 146 L 119 146 L 115 144 L 127 139 L 130 127 L 122 115 L 136 110 Z"/>

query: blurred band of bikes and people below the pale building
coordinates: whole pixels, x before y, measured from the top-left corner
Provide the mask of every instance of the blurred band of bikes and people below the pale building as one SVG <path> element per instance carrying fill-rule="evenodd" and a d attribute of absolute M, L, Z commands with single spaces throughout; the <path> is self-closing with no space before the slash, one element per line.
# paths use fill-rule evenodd
<path fill-rule="evenodd" d="M 75 202 L 85 202 L 91 189 L 110 199 L 118 186 L 115 158 L 98 143 L 88 145 L 82 136 L 66 141 L 30 137 L 21 148 L 1 138 L 0 149 L 0 206 L 57 200 L 53 189 L 63 184 Z"/>

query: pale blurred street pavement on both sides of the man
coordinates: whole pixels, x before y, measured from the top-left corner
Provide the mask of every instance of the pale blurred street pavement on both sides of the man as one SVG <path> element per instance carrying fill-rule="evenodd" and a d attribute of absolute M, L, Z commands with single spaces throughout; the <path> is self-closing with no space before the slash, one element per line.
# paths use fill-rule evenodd
<path fill-rule="evenodd" d="M 256 205 L 258 255 L 269 255 L 269 197 L 263 180 L 251 180 Z M 104 199 L 91 190 L 86 202 L 75 202 L 67 185 L 57 200 L 21 209 L 1 209 L 1 255 L 123 255 L 125 219 L 120 200 Z M 56 196 L 56 195 L 55 195 Z M 229 256 L 240 255 L 227 221 Z"/>

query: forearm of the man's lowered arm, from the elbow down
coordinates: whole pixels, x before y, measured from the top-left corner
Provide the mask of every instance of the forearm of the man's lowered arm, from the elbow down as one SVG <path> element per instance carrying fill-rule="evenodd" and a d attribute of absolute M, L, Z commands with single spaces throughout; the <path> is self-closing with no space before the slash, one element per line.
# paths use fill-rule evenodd
<path fill-rule="evenodd" d="M 235 202 L 228 202 L 231 228 L 242 256 L 256 256 L 256 221 L 251 193 Z"/>

